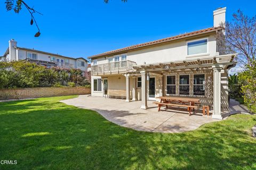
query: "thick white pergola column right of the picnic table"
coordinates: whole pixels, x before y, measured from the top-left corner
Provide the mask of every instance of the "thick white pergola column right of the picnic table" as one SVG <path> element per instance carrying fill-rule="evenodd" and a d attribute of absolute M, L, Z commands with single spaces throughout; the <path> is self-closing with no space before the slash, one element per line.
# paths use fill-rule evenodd
<path fill-rule="evenodd" d="M 221 67 L 213 67 L 213 115 L 212 118 L 222 119 L 221 115 Z"/>

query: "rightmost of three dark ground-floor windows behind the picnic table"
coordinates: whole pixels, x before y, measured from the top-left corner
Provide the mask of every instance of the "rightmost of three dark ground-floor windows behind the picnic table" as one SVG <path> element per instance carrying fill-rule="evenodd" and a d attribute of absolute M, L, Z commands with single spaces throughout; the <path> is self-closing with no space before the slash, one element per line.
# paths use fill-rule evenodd
<path fill-rule="evenodd" d="M 195 74 L 194 75 L 194 87 L 193 87 L 194 95 L 202 95 L 205 94 L 205 78 L 204 74 Z"/>

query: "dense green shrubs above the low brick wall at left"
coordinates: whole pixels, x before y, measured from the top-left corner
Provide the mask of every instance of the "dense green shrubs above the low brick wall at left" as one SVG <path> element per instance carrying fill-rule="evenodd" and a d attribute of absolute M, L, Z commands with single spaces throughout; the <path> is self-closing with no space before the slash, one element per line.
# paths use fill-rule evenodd
<path fill-rule="evenodd" d="M 83 73 L 79 69 L 47 69 L 27 61 L 0 62 L 0 88 L 86 86 L 90 82 Z"/>

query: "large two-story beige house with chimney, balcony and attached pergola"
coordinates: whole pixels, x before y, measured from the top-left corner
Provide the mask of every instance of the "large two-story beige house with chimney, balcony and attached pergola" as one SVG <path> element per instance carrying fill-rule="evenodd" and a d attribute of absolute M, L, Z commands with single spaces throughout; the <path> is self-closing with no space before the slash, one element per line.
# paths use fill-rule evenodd
<path fill-rule="evenodd" d="M 228 107 L 228 70 L 236 54 L 219 43 L 226 7 L 213 11 L 213 27 L 90 56 L 92 96 L 124 96 L 126 101 L 160 96 L 201 98 L 213 118 Z"/>

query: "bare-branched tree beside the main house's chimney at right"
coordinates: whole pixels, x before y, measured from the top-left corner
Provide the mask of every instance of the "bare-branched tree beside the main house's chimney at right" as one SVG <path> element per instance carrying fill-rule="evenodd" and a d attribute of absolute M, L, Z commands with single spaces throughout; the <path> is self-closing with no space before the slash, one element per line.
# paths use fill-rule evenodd
<path fill-rule="evenodd" d="M 222 35 L 223 41 L 218 46 L 226 54 L 239 53 L 237 61 L 242 66 L 252 66 L 256 56 L 256 15 L 250 18 L 238 10 L 233 14 L 232 22 L 222 23 L 221 26 L 226 35 Z"/>

